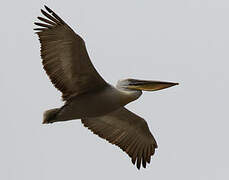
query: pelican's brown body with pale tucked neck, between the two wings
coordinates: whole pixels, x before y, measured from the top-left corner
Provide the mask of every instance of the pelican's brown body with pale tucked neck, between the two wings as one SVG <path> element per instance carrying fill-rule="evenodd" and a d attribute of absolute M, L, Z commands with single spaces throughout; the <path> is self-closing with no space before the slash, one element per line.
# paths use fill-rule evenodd
<path fill-rule="evenodd" d="M 54 110 L 56 111 L 54 117 L 45 117 L 44 122 L 101 116 L 125 106 L 141 94 L 141 91 L 125 92 L 107 84 L 103 89 L 72 97 L 58 111 Z"/>

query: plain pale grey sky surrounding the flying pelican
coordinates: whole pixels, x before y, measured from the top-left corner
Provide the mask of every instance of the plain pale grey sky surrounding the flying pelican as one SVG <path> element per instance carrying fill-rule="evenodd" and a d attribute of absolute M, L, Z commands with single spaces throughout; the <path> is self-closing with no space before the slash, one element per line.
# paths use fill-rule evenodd
<path fill-rule="evenodd" d="M 63 104 L 32 30 L 44 4 L 84 38 L 111 84 L 180 83 L 127 105 L 158 142 L 146 169 L 79 120 L 41 124 Z M 0 179 L 229 179 L 229 1 L 9 0 L 0 9 Z"/>

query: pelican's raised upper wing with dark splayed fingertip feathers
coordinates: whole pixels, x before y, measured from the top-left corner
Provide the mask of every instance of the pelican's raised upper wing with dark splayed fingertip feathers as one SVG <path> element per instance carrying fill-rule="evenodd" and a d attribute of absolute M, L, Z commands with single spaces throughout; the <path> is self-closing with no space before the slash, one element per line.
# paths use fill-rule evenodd
<path fill-rule="evenodd" d="M 41 43 L 43 67 L 63 100 L 102 88 L 106 82 L 98 74 L 88 56 L 84 40 L 56 13 L 46 7 L 46 17 L 35 22 Z"/>

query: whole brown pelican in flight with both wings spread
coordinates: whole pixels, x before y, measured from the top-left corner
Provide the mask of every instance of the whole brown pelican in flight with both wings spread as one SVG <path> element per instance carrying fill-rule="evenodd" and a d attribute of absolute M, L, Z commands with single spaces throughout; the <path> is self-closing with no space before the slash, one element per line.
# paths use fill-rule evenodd
<path fill-rule="evenodd" d="M 156 91 L 178 83 L 125 79 L 108 84 L 92 65 L 84 40 L 45 6 L 35 28 L 41 43 L 43 68 L 62 92 L 65 104 L 44 112 L 43 123 L 81 119 L 85 127 L 119 146 L 132 163 L 145 168 L 157 148 L 146 121 L 124 106 L 142 91 Z"/>

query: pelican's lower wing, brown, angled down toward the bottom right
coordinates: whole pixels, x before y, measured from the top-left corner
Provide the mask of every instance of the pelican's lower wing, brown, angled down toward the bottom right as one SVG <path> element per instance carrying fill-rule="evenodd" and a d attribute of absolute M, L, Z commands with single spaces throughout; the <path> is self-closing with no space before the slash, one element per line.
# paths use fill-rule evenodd
<path fill-rule="evenodd" d="M 146 121 L 141 117 L 121 107 L 105 116 L 86 118 L 81 121 L 99 137 L 119 146 L 132 158 L 133 164 L 137 160 L 138 169 L 141 162 L 144 168 L 146 162 L 150 163 L 157 143 Z"/>

